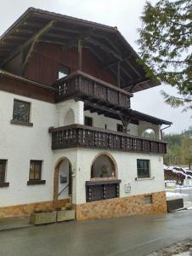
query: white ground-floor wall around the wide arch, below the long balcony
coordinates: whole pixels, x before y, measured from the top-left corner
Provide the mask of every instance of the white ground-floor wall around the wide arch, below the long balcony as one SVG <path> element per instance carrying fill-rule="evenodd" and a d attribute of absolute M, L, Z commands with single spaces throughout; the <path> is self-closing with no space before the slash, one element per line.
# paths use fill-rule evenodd
<path fill-rule="evenodd" d="M 121 179 L 120 196 L 139 195 L 144 193 L 159 192 L 165 189 L 163 158 L 155 154 L 135 154 L 118 151 L 104 151 L 110 154 L 117 165 L 117 178 Z M 85 182 L 91 178 L 91 165 L 94 157 L 99 154 L 97 149 L 88 150 L 86 148 L 77 149 L 77 170 L 76 179 L 76 202 L 84 203 L 86 201 Z M 85 157 L 86 155 L 86 157 Z M 150 160 L 151 178 L 135 180 L 137 177 L 137 159 Z M 154 177 L 154 178 L 153 178 Z M 131 183 L 131 193 L 125 193 L 125 184 Z"/>

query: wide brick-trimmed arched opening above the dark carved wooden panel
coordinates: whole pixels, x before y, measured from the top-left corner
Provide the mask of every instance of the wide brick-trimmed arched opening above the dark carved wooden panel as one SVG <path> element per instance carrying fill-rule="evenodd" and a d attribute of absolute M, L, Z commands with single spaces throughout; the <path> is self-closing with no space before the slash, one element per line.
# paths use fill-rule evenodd
<path fill-rule="evenodd" d="M 91 166 L 91 178 L 117 177 L 116 161 L 109 154 L 99 154 Z"/>

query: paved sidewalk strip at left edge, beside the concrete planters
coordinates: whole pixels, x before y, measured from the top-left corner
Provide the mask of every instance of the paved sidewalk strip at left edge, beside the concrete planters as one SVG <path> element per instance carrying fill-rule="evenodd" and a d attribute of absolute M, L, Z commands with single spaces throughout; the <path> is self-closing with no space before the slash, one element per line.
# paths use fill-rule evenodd
<path fill-rule="evenodd" d="M 29 223 L 29 218 L 2 218 L 0 219 L 0 231 L 18 230 L 33 226 Z"/>

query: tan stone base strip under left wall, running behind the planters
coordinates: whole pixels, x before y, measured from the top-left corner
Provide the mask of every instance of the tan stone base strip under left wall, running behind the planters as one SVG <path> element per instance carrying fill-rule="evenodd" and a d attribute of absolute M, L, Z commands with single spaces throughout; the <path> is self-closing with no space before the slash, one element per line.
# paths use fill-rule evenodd
<path fill-rule="evenodd" d="M 56 207 L 65 207 L 70 199 L 63 199 L 57 201 Z M 31 204 L 11 206 L 11 207 L 0 207 L 0 218 L 13 218 L 28 216 L 34 211 L 49 211 L 54 210 L 55 205 L 53 201 L 41 201 Z"/>

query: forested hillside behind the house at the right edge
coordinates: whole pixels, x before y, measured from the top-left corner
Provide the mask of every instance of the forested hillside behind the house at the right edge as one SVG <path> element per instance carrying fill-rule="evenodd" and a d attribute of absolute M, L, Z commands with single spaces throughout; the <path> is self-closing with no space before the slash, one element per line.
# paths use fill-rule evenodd
<path fill-rule="evenodd" d="M 163 140 L 168 143 L 164 163 L 167 166 L 192 167 L 192 126 L 180 134 L 163 134 Z"/>

